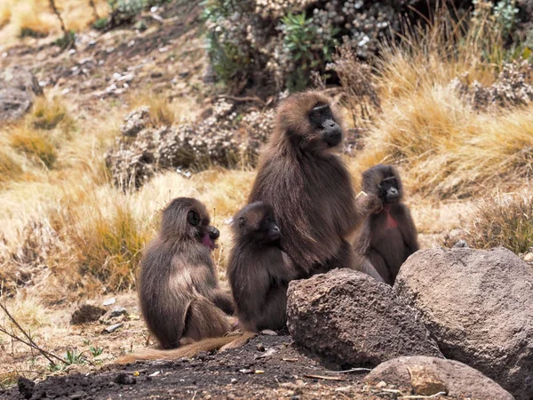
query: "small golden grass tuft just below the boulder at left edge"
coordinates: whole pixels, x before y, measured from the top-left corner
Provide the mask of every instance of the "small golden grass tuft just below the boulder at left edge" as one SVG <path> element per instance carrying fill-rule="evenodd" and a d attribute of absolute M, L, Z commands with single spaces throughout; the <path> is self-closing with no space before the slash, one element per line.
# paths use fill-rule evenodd
<path fill-rule="evenodd" d="M 42 133 L 28 128 L 16 129 L 11 134 L 12 147 L 40 160 L 46 168 L 52 168 L 57 151 L 52 142 Z"/>

